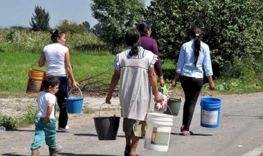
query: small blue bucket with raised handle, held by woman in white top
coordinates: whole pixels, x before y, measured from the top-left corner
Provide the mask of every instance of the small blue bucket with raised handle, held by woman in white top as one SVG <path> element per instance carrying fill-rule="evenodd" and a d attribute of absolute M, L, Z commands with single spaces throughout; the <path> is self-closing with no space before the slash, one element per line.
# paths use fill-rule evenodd
<path fill-rule="evenodd" d="M 78 88 L 78 87 L 77 87 Z M 72 90 L 72 89 L 71 89 Z M 69 93 L 71 92 L 69 91 Z M 78 88 L 80 90 L 80 88 Z M 82 111 L 82 104 L 83 104 L 83 97 L 82 92 L 80 90 L 81 97 L 66 97 L 66 110 L 68 113 L 81 113 Z"/>

